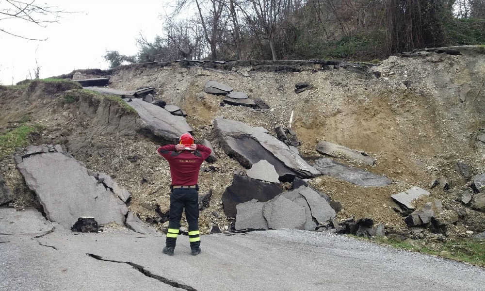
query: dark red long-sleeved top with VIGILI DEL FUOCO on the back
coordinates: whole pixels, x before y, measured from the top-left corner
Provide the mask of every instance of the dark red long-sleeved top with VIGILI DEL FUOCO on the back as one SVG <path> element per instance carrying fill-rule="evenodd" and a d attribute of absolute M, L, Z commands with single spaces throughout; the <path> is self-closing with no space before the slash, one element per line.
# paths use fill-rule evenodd
<path fill-rule="evenodd" d="M 209 147 L 197 145 L 194 152 L 183 150 L 178 152 L 175 145 L 161 146 L 158 153 L 170 164 L 172 186 L 196 185 L 199 178 L 199 169 L 212 152 Z"/>

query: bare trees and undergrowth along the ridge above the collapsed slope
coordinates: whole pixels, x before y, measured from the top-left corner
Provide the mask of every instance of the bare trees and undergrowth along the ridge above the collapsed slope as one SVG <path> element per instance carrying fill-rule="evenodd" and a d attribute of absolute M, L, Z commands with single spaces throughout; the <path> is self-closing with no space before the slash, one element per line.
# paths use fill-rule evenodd
<path fill-rule="evenodd" d="M 194 16 L 178 20 L 182 12 Z M 161 16 L 162 17 L 162 16 Z M 176 59 L 373 60 L 485 44 L 485 0 L 178 0 L 163 34 L 112 66 Z"/>

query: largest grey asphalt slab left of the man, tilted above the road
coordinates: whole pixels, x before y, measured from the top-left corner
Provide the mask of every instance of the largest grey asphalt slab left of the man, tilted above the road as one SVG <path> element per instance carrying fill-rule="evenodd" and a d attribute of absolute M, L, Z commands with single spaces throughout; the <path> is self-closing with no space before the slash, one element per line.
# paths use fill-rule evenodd
<path fill-rule="evenodd" d="M 118 194 L 113 193 L 59 146 L 28 146 L 15 160 L 50 221 L 69 228 L 79 217 L 92 216 L 101 225 L 124 225 L 128 208 L 118 195 L 126 192 L 116 186 Z"/>

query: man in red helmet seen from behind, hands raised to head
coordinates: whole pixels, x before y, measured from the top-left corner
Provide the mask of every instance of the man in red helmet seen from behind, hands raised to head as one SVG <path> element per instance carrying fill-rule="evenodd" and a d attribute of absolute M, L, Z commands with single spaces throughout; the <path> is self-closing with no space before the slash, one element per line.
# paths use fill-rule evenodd
<path fill-rule="evenodd" d="M 189 223 L 189 241 L 192 256 L 200 254 L 199 238 L 199 170 L 202 162 L 210 156 L 211 150 L 207 146 L 195 145 L 194 137 L 190 133 L 180 136 L 178 145 L 167 145 L 158 148 L 159 154 L 170 164 L 172 176 L 170 194 L 170 212 L 166 246 L 163 253 L 174 255 L 175 243 L 180 227 L 182 211 Z"/>

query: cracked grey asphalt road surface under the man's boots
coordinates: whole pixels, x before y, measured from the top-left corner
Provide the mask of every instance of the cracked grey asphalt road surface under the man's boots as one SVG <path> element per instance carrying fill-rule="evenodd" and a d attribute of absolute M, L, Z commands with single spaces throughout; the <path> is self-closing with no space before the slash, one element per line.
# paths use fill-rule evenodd
<path fill-rule="evenodd" d="M 483 268 L 340 235 L 283 229 L 203 236 L 199 256 L 191 256 L 188 238 L 179 236 L 173 257 L 162 254 L 164 240 L 129 230 L 0 236 L 0 290 L 464 291 L 485 286 Z"/>

